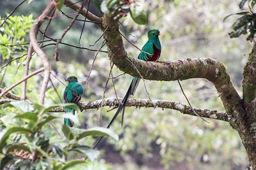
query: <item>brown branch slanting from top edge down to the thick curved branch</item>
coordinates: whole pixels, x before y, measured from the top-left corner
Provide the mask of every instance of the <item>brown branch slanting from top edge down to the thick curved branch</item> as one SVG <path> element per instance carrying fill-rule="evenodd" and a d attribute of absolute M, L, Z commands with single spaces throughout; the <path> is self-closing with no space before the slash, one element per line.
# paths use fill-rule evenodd
<path fill-rule="evenodd" d="M 72 10 L 75 11 L 79 11 L 79 9 L 81 8 L 81 6 L 79 4 L 74 4 L 72 1 L 70 0 L 65 0 L 64 4 L 66 6 L 68 6 L 68 8 L 71 8 Z M 94 21 L 95 24 L 100 25 L 102 20 L 101 18 L 97 17 L 96 15 L 94 15 L 93 13 L 91 13 L 90 11 L 87 11 L 86 9 L 83 8 L 83 10 L 81 11 L 81 15 L 83 15 L 84 17 L 88 18 L 91 21 Z"/>

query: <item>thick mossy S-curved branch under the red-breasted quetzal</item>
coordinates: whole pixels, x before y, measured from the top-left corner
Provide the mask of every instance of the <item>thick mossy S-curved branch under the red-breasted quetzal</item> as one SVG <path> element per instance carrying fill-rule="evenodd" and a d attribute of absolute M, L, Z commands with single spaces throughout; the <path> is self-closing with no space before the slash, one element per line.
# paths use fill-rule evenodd
<path fill-rule="evenodd" d="M 172 62 L 147 62 L 138 60 L 125 52 L 122 36 L 119 34 L 119 24 L 113 18 L 104 15 L 102 31 L 109 29 L 104 34 L 108 45 L 109 59 L 116 67 L 132 76 L 143 76 L 147 80 L 174 81 L 189 78 L 206 78 L 211 81 L 228 113 L 233 114 L 234 108 L 241 103 L 241 97 L 234 89 L 230 76 L 224 64 L 215 59 L 182 59 Z M 138 71 L 140 73 L 138 73 Z"/>

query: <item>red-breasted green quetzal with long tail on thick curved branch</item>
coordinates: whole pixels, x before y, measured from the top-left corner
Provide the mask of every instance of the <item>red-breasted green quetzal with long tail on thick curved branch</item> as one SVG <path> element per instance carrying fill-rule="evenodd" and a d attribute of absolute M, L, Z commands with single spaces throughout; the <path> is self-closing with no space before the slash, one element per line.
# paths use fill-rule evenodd
<path fill-rule="evenodd" d="M 161 43 L 158 38 L 159 35 L 160 35 L 160 32 L 157 29 L 152 29 L 152 30 L 148 31 L 148 41 L 142 47 L 141 52 L 138 56 L 138 59 L 145 60 L 145 61 L 157 61 L 159 59 L 159 57 L 161 55 Z M 137 77 L 134 77 L 132 79 L 131 85 L 129 86 L 129 89 L 127 90 L 127 93 L 125 94 L 122 104 L 119 106 L 119 108 L 116 111 L 111 122 L 108 124 L 107 128 L 109 128 L 111 126 L 111 124 L 114 122 L 117 115 L 121 111 L 123 111 L 123 114 L 122 114 L 122 125 L 123 125 L 125 105 L 127 103 L 127 100 L 129 99 L 129 97 L 131 95 L 134 95 L 134 92 L 135 92 L 136 88 L 138 87 L 140 79 L 141 78 L 137 78 Z M 95 141 L 93 146 L 95 147 L 101 139 L 102 139 L 102 137 L 99 137 Z"/>

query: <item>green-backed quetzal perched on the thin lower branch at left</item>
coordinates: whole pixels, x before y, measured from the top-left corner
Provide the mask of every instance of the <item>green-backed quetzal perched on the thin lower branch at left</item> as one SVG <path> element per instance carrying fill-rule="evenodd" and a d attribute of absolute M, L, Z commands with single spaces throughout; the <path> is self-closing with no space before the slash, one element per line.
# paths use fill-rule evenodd
<path fill-rule="evenodd" d="M 66 81 L 68 81 L 68 85 L 63 92 L 65 103 L 78 104 L 84 92 L 82 85 L 77 82 L 77 78 L 75 76 L 68 77 Z M 65 113 L 73 113 L 73 115 L 75 115 L 75 110 L 66 107 Z M 73 127 L 74 123 L 69 118 L 64 118 L 64 124 Z"/>

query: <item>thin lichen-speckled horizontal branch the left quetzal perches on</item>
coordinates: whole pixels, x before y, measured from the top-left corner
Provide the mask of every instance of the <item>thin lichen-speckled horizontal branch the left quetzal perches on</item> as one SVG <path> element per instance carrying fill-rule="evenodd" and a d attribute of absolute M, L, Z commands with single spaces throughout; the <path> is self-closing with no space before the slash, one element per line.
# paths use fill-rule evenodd
<path fill-rule="evenodd" d="M 82 110 L 89 110 L 89 109 L 99 109 L 101 106 L 112 106 L 112 107 L 118 107 L 120 105 L 120 102 L 122 102 L 122 99 L 104 99 L 103 103 L 102 100 L 97 101 L 88 101 L 88 102 L 82 102 L 81 109 Z M 220 111 L 211 111 L 208 109 L 198 109 L 198 108 L 191 108 L 190 106 L 187 106 L 184 103 L 179 102 L 172 102 L 172 101 L 165 101 L 165 100 L 149 100 L 149 99 L 129 99 L 127 101 L 126 106 L 135 106 L 135 107 L 144 107 L 144 108 L 168 108 L 172 110 L 178 110 L 181 113 L 187 114 L 187 115 L 193 115 L 196 116 L 193 112 L 193 109 L 195 112 L 200 115 L 201 117 L 205 118 L 212 118 L 216 120 L 223 120 L 228 122 L 228 115 L 225 112 Z M 63 112 L 65 111 L 64 108 L 56 108 L 52 110 L 52 112 Z M 197 116 L 196 116 L 197 117 Z"/>

